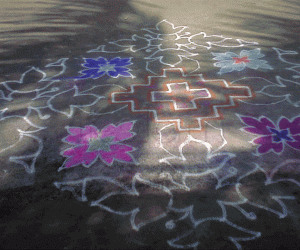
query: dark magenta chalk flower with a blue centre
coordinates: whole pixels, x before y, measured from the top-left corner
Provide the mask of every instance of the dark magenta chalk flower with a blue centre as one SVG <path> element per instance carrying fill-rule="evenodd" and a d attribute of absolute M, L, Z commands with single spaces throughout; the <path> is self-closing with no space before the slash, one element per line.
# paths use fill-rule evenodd
<path fill-rule="evenodd" d="M 300 117 L 294 118 L 291 122 L 281 117 L 277 126 L 266 117 L 255 119 L 253 117 L 240 117 L 242 122 L 250 127 L 243 128 L 245 131 L 262 135 L 252 142 L 260 145 L 257 149 L 259 154 L 269 151 L 281 153 L 284 145 L 300 150 Z"/>

